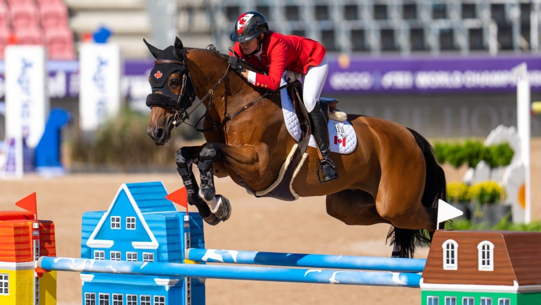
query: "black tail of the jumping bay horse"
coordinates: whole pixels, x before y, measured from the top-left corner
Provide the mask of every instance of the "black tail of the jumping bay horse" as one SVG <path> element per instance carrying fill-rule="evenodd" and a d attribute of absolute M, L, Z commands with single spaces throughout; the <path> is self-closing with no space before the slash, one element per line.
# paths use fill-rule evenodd
<path fill-rule="evenodd" d="M 412 133 L 417 145 L 423 152 L 426 164 L 425 191 L 421 198 L 421 203 L 427 208 L 438 208 L 438 200 L 447 200 L 447 189 L 444 170 L 436 162 L 434 149 L 428 141 L 417 131 L 408 128 Z M 434 228 L 436 229 L 436 228 Z M 394 236 L 393 236 L 394 235 Z M 423 229 L 411 230 L 391 227 L 387 238 L 391 238 L 391 244 L 394 242 L 398 253 L 393 256 L 413 257 L 415 247 L 429 246 L 432 235 L 427 234 Z"/>

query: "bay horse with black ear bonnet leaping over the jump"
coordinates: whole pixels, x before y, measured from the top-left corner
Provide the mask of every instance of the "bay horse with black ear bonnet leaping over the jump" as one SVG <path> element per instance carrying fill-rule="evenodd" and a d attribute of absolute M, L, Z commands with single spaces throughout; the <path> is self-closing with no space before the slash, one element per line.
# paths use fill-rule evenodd
<path fill-rule="evenodd" d="M 229 176 L 256 194 L 278 181 L 298 144 L 286 129 L 280 92 L 229 73 L 228 56 L 212 47 L 184 48 L 178 37 L 164 50 L 144 42 L 156 58 L 149 76 L 153 93 L 147 97 L 147 134 L 164 145 L 199 98 L 206 113 L 198 130 L 206 143 L 180 148 L 177 171 L 188 202 L 204 220 L 212 225 L 225 221 L 230 204 L 215 194 L 213 176 Z M 364 115 L 348 114 L 347 121 L 359 144 L 352 153 L 332 153 L 338 180 L 318 182 L 318 153 L 308 147 L 291 188 L 301 197 L 325 195 L 327 213 L 348 225 L 391 224 L 387 240 L 394 245 L 393 256 L 413 257 L 415 247 L 430 244 L 437 229 L 438 199 L 446 199 L 444 171 L 430 143 L 414 130 Z M 194 162 L 201 185 L 192 172 Z"/>

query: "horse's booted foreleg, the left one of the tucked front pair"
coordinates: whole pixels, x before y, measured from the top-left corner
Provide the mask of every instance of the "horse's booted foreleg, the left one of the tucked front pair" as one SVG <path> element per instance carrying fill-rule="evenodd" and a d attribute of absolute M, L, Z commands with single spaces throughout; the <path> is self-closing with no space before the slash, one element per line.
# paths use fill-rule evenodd
<path fill-rule="evenodd" d="M 193 147 L 182 147 L 177 150 L 175 154 L 176 170 L 179 172 L 186 192 L 188 193 L 188 203 L 195 205 L 199 211 L 199 215 L 208 224 L 214 226 L 220 223 L 220 220 L 210 212 L 207 203 L 203 202 L 199 197 L 199 187 L 195 181 L 194 173 L 192 171 L 193 160 L 199 155 L 203 145 Z"/>

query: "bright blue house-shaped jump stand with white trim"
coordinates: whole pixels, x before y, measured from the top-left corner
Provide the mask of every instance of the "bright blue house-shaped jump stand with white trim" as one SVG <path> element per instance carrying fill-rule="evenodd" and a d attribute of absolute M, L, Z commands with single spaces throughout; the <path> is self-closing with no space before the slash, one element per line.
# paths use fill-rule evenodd
<path fill-rule="evenodd" d="M 190 214 L 192 233 L 182 235 L 186 213 L 177 211 L 166 195 L 161 182 L 122 184 L 107 211 L 83 214 L 81 258 L 180 263 L 185 248 L 204 248 L 201 217 Z M 83 305 L 205 301 L 203 279 L 81 273 L 81 281 Z"/>

